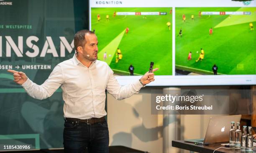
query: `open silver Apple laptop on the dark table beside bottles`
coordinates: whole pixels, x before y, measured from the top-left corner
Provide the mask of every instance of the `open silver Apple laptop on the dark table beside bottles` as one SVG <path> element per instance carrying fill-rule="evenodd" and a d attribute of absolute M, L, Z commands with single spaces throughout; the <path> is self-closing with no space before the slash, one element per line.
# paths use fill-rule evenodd
<path fill-rule="evenodd" d="M 240 122 L 242 115 L 216 116 L 211 117 L 204 139 L 184 140 L 185 142 L 197 144 L 223 143 L 229 141 L 229 130 L 231 122 Z"/>

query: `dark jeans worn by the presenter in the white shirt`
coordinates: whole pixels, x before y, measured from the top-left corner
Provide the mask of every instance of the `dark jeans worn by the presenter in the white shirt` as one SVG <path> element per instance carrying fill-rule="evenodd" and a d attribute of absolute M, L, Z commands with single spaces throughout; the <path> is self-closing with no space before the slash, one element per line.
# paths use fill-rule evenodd
<path fill-rule="evenodd" d="M 108 124 L 66 120 L 63 140 L 65 153 L 108 153 Z"/>

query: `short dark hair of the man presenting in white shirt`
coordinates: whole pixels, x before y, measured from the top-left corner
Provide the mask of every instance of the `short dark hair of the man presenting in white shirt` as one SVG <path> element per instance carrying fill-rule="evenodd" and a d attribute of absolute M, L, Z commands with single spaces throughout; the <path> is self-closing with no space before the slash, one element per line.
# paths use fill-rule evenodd
<path fill-rule="evenodd" d="M 79 47 L 79 46 L 82 46 L 82 47 L 84 46 L 84 44 L 86 43 L 85 35 L 87 33 L 95 34 L 93 31 L 90 31 L 90 30 L 81 30 L 75 34 L 75 36 L 74 36 L 75 50 L 77 50 L 77 47 Z"/>

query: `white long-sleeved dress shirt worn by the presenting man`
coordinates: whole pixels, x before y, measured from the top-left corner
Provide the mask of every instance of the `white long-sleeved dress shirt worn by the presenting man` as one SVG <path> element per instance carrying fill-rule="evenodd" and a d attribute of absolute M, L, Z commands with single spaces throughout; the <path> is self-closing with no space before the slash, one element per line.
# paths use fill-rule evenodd
<path fill-rule="evenodd" d="M 64 117 L 89 119 L 107 115 L 105 89 L 115 99 L 121 100 L 138 93 L 143 85 L 137 80 L 121 87 L 107 63 L 96 60 L 90 67 L 84 66 L 77 57 L 63 61 L 41 85 L 30 79 L 22 87 L 33 98 L 45 99 L 61 87 L 64 100 Z"/>

